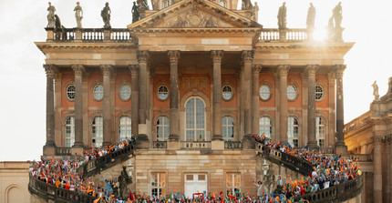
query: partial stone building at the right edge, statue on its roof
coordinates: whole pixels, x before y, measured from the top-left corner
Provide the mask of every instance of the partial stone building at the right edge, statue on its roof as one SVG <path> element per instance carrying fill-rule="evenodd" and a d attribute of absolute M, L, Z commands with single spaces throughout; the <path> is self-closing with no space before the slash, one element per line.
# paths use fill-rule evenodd
<path fill-rule="evenodd" d="M 366 202 L 391 202 L 392 77 L 387 94 L 376 95 L 366 113 L 346 123 L 345 139 L 349 154 L 361 159 Z"/>

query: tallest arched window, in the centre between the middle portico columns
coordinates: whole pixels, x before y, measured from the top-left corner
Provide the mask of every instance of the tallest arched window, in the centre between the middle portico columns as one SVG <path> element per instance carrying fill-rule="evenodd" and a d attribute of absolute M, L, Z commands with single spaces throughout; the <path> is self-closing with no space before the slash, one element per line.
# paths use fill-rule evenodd
<path fill-rule="evenodd" d="M 185 135 L 187 141 L 205 140 L 205 107 L 200 97 L 191 97 L 185 105 Z"/>

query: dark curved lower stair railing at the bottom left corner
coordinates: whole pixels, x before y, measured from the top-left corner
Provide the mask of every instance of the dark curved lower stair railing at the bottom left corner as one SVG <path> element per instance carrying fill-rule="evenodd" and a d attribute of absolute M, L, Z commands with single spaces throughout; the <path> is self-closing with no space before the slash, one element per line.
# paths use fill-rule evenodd
<path fill-rule="evenodd" d="M 85 202 L 92 203 L 97 197 L 82 194 L 77 191 L 71 191 L 65 188 L 57 188 L 54 185 L 47 184 L 42 180 L 34 178 L 31 174 L 28 182 L 28 191 L 39 198 L 54 200 L 54 202 Z"/>

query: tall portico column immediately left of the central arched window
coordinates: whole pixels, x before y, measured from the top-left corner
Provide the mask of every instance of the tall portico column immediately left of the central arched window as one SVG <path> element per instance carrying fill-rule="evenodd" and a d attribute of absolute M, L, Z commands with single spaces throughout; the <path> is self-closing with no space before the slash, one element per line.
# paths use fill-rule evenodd
<path fill-rule="evenodd" d="M 170 141 L 180 140 L 179 50 L 168 51 L 170 60 Z"/>

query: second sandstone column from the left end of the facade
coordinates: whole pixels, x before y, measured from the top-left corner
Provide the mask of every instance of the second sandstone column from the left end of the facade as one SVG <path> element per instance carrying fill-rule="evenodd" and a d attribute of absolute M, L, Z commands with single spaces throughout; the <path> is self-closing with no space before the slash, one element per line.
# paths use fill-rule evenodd
<path fill-rule="evenodd" d="M 82 76 L 85 72 L 83 65 L 72 65 L 75 73 L 75 144 L 72 154 L 83 150 L 83 87 Z"/>

